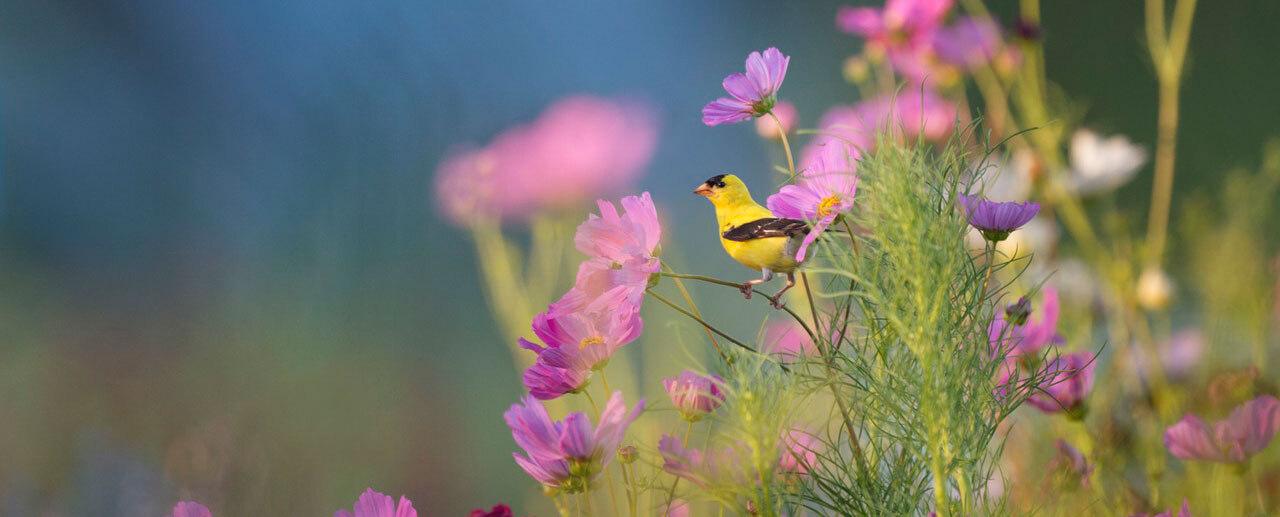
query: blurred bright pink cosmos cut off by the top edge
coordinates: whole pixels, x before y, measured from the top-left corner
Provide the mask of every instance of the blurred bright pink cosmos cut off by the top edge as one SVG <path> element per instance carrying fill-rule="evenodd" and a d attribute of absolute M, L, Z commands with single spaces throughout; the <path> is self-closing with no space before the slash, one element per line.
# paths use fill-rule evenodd
<path fill-rule="evenodd" d="M 882 50 L 910 51 L 928 45 L 952 0 L 888 0 L 884 8 L 840 8 L 836 27 Z"/>

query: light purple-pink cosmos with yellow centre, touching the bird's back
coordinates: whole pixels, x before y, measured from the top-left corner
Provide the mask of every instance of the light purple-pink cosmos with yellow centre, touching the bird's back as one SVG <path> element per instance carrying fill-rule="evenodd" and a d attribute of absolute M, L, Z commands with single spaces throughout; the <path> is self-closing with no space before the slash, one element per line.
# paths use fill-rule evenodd
<path fill-rule="evenodd" d="M 828 146 L 826 152 L 796 179 L 796 184 L 782 186 L 778 193 L 769 196 L 765 206 L 774 215 L 818 220 L 800 243 L 796 262 L 804 262 L 809 244 L 813 244 L 837 216 L 854 207 L 855 192 L 858 192 L 858 175 L 854 174 L 854 160 L 844 146 Z"/>

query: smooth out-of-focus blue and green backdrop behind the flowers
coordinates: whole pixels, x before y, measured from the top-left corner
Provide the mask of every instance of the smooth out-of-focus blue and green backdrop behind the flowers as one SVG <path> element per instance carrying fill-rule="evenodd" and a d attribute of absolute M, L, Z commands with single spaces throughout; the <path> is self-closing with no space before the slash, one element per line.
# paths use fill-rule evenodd
<path fill-rule="evenodd" d="M 801 127 L 856 99 L 833 1 L 0 5 L 4 516 L 330 514 L 365 486 L 420 514 L 518 512 L 538 493 L 500 415 L 522 388 L 468 234 L 433 206 L 444 154 L 567 93 L 644 99 L 660 139 L 635 191 L 664 250 L 745 279 L 689 191 L 765 183 L 778 156 L 700 107 L 765 46 L 792 56 Z M 1197 10 L 1175 214 L 1280 134 L 1277 19 L 1267 0 Z M 1142 4 L 1048 1 L 1043 20 L 1085 125 L 1151 148 Z M 1119 202 L 1144 214 L 1149 184 L 1148 165 Z M 646 319 L 640 347 L 675 347 L 675 316 Z"/>

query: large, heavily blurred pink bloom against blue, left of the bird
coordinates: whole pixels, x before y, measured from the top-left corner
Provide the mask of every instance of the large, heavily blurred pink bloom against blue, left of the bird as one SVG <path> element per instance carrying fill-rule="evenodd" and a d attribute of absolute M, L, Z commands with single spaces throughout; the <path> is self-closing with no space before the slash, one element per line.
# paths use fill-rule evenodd
<path fill-rule="evenodd" d="M 630 101 L 566 97 L 490 145 L 442 160 L 436 203 L 462 225 L 576 206 L 625 188 L 649 163 L 655 145 L 650 109 Z"/>

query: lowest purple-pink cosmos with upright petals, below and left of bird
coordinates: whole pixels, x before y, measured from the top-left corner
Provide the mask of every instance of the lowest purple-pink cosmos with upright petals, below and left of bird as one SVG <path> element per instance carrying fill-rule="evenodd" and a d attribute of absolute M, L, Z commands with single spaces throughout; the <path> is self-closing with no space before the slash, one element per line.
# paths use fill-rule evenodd
<path fill-rule="evenodd" d="M 617 454 L 627 426 L 643 411 L 644 399 L 627 411 L 622 393 L 614 392 L 595 429 L 582 412 L 553 421 L 532 397 L 525 397 L 522 404 L 512 404 L 503 418 L 511 427 L 511 438 L 527 454 L 512 453 L 516 463 L 543 485 L 573 494 L 586 490 L 604 471 Z"/>

